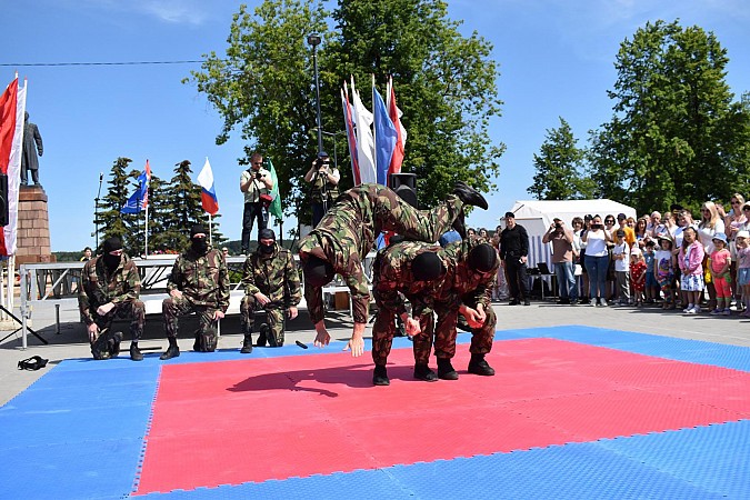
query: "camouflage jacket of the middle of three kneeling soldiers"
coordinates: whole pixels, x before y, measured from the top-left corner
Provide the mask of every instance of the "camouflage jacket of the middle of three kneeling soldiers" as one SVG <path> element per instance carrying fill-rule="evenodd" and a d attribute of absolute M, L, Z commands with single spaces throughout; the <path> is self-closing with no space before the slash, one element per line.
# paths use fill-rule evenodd
<path fill-rule="evenodd" d="M 177 258 L 167 291 L 180 290 L 194 306 L 208 306 L 227 312 L 229 272 L 221 251 L 209 249 L 204 256 L 188 250 Z"/>

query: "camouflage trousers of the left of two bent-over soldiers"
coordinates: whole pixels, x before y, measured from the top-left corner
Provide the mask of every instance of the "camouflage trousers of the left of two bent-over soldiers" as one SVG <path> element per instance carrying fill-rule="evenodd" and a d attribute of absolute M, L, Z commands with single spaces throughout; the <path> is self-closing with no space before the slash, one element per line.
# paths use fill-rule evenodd
<path fill-rule="evenodd" d="M 422 311 L 419 316 L 421 332 L 414 336 L 413 351 L 414 363 L 427 364 L 432 349 L 432 336 L 434 334 L 434 314 L 431 310 Z M 372 361 L 376 364 L 386 366 L 388 356 L 391 353 L 396 334 L 396 311 L 378 307 L 378 316 L 372 326 Z"/>

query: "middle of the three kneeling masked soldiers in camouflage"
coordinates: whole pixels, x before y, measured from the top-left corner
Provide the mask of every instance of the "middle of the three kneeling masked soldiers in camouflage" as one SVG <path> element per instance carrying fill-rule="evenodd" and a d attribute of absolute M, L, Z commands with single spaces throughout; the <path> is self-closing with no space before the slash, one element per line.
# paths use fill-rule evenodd
<path fill-rule="evenodd" d="M 169 297 L 161 304 L 169 348 L 160 359 L 180 356 L 177 346 L 178 316 L 196 311 L 199 328 L 193 350 L 213 352 L 217 348 L 217 322 L 229 308 L 229 272 L 220 250 L 208 243 L 202 224 L 190 230 L 190 249 L 174 261 L 167 282 Z"/>

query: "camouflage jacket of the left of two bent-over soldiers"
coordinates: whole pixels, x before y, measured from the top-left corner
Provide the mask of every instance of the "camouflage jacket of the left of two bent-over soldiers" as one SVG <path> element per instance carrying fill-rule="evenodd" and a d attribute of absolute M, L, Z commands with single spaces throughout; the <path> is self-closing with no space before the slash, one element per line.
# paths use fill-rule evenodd
<path fill-rule="evenodd" d="M 444 277 L 434 281 L 416 281 L 411 271 L 411 261 L 423 252 L 437 252 L 448 268 L 446 256 L 438 244 L 420 241 L 403 241 L 391 244 L 378 252 L 372 267 L 372 293 L 379 308 L 389 309 L 397 314 L 407 312 L 409 299 L 414 310 L 431 309 L 434 297 L 442 290 Z M 450 290 L 449 287 L 447 287 Z"/>

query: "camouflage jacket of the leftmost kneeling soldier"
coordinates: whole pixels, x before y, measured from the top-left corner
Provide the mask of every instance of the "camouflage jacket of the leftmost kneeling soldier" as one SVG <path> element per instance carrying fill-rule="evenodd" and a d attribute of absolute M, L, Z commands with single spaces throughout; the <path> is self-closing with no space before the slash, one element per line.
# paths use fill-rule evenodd
<path fill-rule="evenodd" d="M 93 312 L 109 302 L 120 303 L 138 299 L 141 293 L 141 277 L 138 267 L 127 254 L 112 274 L 107 272 L 104 260 L 99 257 L 86 262 L 81 271 L 78 307 L 87 324 L 93 323 Z"/>

